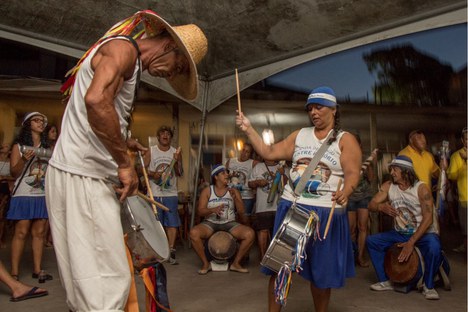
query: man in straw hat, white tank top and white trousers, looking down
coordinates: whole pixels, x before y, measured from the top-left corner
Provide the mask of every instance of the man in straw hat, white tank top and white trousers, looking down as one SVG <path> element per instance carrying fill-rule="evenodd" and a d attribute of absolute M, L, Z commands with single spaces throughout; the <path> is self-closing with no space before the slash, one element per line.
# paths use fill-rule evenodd
<path fill-rule="evenodd" d="M 115 37 L 133 35 L 141 25 L 136 40 Z M 206 37 L 196 25 L 172 27 L 156 13 L 140 11 L 91 47 L 64 84 L 69 101 L 46 193 L 71 310 L 122 311 L 127 301 L 131 276 L 119 200 L 137 192 L 127 149 L 146 151 L 127 135 L 141 72 L 166 79 L 181 97 L 193 100 L 196 64 L 206 51 Z M 117 179 L 119 186 L 109 183 Z"/>

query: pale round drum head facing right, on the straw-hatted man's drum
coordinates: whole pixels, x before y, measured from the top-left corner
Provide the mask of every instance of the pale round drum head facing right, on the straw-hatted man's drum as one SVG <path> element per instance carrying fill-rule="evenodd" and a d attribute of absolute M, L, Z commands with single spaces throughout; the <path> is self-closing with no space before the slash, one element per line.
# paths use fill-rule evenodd
<path fill-rule="evenodd" d="M 151 205 L 141 197 L 130 196 L 127 198 L 125 206 L 123 217 L 129 219 L 127 223 L 130 223 L 130 226 L 124 227 L 124 231 L 139 236 L 140 241 L 144 240 L 148 254 L 153 252 L 157 259 L 167 260 L 170 249 L 166 232 L 154 215 Z M 122 223 L 125 224 L 123 221 Z M 143 246 L 135 246 L 135 248 L 142 249 Z"/>

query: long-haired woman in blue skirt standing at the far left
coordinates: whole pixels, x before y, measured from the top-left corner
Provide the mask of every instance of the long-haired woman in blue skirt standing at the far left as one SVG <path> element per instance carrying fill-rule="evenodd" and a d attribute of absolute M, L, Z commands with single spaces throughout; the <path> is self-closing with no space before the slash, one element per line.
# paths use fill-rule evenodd
<path fill-rule="evenodd" d="M 19 279 L 19 266 L 26 237 L 31 232 L 33 251 L 32 277 L 40 283 L 52 276 L 42 270 L 44 235 L 48 219 L 45 198 L 45 175 L 48 159 L 38 157 L 34 150 L 22 147 L 48 148 L 45 127 L 47 117 L 39 112 L 26 114 L 21 130 L 11 150 L 10 172 L 16 178 L 11 194 L 7 219 L 15 221 L 11 242 L 11 275 Z"/>

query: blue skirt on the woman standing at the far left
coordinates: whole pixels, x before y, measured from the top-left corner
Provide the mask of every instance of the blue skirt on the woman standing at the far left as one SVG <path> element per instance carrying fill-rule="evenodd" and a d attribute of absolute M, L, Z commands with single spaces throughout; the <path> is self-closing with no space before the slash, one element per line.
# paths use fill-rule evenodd
<path fill-rule="evenodd" d="M 8 209 L 8 220 L 48 219 L 45 196 L 12 197 Z"/>

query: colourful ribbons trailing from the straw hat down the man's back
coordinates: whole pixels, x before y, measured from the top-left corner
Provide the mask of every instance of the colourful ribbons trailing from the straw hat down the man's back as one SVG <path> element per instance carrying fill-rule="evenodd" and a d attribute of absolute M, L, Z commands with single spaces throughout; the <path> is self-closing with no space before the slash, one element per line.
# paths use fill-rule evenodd
<path fill-rule="evenodd" d="M 75 65 L 75 67 L 73 67 L 72 69 L 70 69 L 67 74 L 65 75 L 65 77 L 68 77 L 68 79 L 64 82 L 64 84 L 62 85 L 62 87 L 60 88 L 60 91 L 62 92 L 62 94 L 66 97 L 70 96 L 72 91 L 73 91 L 73 85 L 75 84 L 75 77 L 76 77 L 76 73 L 78 72 L 78 70 L 80 69 L 81 67 L 81 64 L 83 63 L 83 61 L 88 57 L 88 55 L 91 53 L 91 51 L 96 47 L 98 46 L 101 42 L 103 42 L 104 40 L 106 40 L 107 38 L 109 37 L 113 37 L 113 36 L 131 36 L 132 32 L 136 29 L 136 27 L 141 23 L 143 22 L 144 23 L 144 29 L 142 29 L 141 31 L 139 31 L 138 33 L 136 33 L 135 35 L 133 35 L 133 39 L 139 39 L 143 36 L 143 34 L 145 32 L 148 31 L 148 29 L 151 30 L 152 26 L 150 25 L 150 23 L 145 19 L 145 14 L 146 13 L 152 13 L 152 14 L 156 14 L 154 13 L 153 11 L 151 10 L 144 10 L 144 11 L 138 11 L 137 13 L 135 13 L 133 16 L 127 18 L 127 19 L 124 19 L 120 22 L 118 22 L 117 24 L 115 24 L 114 26 L 112 26 L 105 34 L 104 36 L 102 36 L 98 41 L 96 41 L 95 44 L 93 44 L 91 46 L 91 48 L 89 48 L 88 51 L 85 52 L 85 54 L 83 54 L 83 56 L 81 57 L 81 59 L 78 61 L 78 63 Z M 156 32 L 155 30 L 151 30 L 153 32 Z"/>

